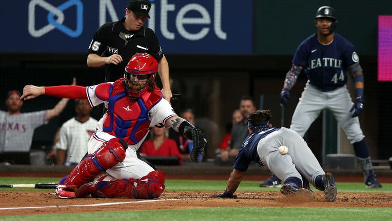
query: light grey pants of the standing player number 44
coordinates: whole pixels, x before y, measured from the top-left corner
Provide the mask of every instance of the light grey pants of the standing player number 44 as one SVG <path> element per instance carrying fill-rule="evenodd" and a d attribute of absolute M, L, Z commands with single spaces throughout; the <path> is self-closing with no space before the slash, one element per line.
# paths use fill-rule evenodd
<path fill-rule="evenodd" d="M 359 142 L 365 136 L 362 133 L 358 117 L 351 117 L 352 104 L 354 103 L 351 101 L 346 85 L 334 91 L 322 92 L 309 84 L 308 81 L 292 115 L 290 129 L 303 137 L 320 112 L 323 109 L 329 109 L 343 128 L 350 143 Z"/>

